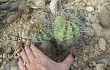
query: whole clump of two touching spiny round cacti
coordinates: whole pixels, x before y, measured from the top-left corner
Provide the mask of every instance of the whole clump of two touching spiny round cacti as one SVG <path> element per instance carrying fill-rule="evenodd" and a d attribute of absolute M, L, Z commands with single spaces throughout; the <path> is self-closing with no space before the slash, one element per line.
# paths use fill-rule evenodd
<path fill-rule="evenodd" d="M 54 37 L 58 44 L 67 46 L 80 38 L 80 22 L 73 16 L 56 16 L 52 25 L 46 20 L 35 24 L 32 40 L 42 43 Z"/>

